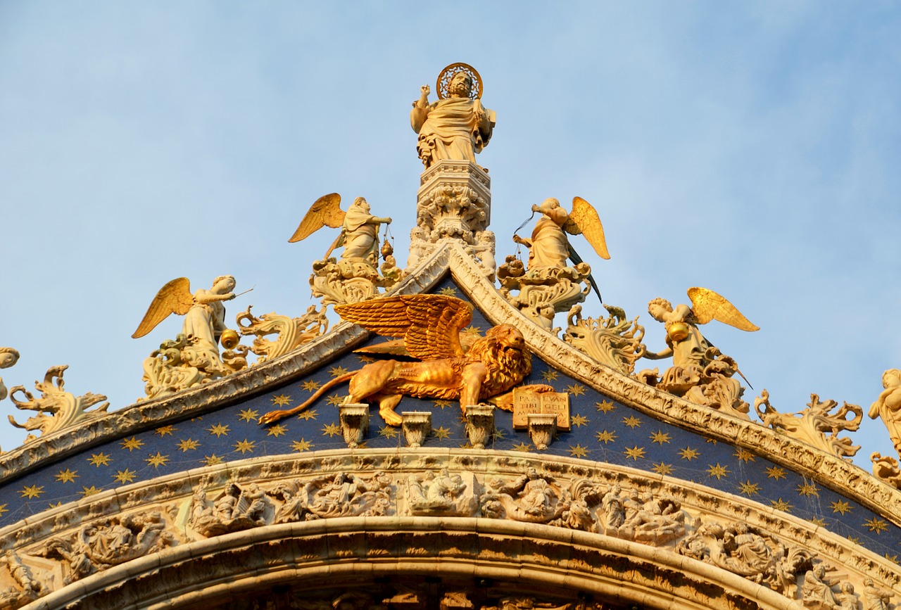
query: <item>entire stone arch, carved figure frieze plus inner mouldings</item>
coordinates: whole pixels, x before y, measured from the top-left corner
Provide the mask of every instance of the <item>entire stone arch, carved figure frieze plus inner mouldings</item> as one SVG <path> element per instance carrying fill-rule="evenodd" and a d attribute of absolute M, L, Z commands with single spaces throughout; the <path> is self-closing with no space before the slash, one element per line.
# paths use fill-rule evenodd
<path fill-rule="evenodd" d="M 512 451 L 219 464 L 50 508 L 0 531 L 0 546 L 3 607 L 29 610 L 210 607 L 393 576 L 566 589 L 614 607 L 788 608 L 821 567 L 858 595 L 901 592 L 890 560 L 749 499 Z"/>

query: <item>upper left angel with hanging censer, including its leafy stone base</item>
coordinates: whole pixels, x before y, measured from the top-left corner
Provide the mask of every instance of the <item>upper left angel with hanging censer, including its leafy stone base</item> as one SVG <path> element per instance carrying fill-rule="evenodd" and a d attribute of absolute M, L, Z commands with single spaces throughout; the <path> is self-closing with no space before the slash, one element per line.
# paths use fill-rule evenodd
<path fill-rule="evenodd" d="M 323 259 L 313 264 L 310 286 L 314 296 L 323 296 L 326 305 L 357 303 L 376 296 L 377 287 L 397 281 L 394 275 L 386 279 L 378 273 L 378 227 L 383 223 L 390 224 L 391 219 L 370 214 L 369 202 L 363 197 L 354 199 L 347 212 L 341 210 L 338 193 L 316 199 L 288 240 L 305 240 L 323 226 L 341 227 Z M 340 246 L 344 247 L 341 258 L 331 258 L 332 251 Z M 386 257 L 390 254 L 387 251 Z"/>

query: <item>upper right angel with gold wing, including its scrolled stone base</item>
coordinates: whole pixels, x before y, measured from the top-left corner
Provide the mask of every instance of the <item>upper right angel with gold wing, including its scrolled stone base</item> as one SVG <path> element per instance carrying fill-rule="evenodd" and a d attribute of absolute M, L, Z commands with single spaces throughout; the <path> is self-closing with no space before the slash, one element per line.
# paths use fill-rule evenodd
<path fill-rule="evenodd" d="M 591 267 L 578 256 L 567 234 L 585 235 L 602 259 L 609 259 L 610 254 L 601 219 L 594 206 L 582 197 L 573 197 L 571 212 L 551 197 L 542 205 L 532 205 L 532 215 L 535 213 L 542 216 L 535 223 L 532 237 L 523 238 L 515 233 L 513 236 L 515 243 L 529 249 L 526 266 L 523 268 L 521 261 L 509 256 L 497 269 L 497 278 L 507 300 L 551 330 L 554 314 L 569 311 L 570 307 L 584 301 L 591 288 L 600 298 Z M 514 296 L 511 290 L 519 292 Z"/>

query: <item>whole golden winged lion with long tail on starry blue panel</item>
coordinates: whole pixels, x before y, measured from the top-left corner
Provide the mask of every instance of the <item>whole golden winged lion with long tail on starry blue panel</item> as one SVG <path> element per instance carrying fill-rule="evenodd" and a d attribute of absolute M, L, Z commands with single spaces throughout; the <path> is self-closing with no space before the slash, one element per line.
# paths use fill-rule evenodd
<path fill-rule="evenodd" d="M 335 311 L 344 320 L 380 335 L 403 338 L 404 351 L 421 361 L 379 360 L 367 364 L 332 379 L 303 405 L 264 414 L 259 423 L 299 413 L 332 387 L 350 380 L 345 404 L 378 403 L 378 414 L 385 423 L 396 426 L 401 417 L 394 409 L 403 396 L 459 398 L 465 411 L 467 405 L 508 392 L 532 371 L 523 333 L 510 324 L 488 329 L 466 350 L 464 346 L 470 341 L 461 341 L 460 331 L 472 321 L 472 306 L 452 296 L 389 296 L 336 305 Z"/>

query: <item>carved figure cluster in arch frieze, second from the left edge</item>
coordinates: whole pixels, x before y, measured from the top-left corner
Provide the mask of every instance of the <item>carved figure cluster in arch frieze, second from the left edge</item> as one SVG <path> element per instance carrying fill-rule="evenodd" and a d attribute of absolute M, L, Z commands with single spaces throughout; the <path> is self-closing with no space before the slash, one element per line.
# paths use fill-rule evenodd
<path fill-rule="evenodd" d="M 74 536 L 50 539 L 41 556 L 65 561 L 63 582 L 68 584 L 177 544 L 168 528 L 159 512 L 116 516 L 84 525 Z"/>

